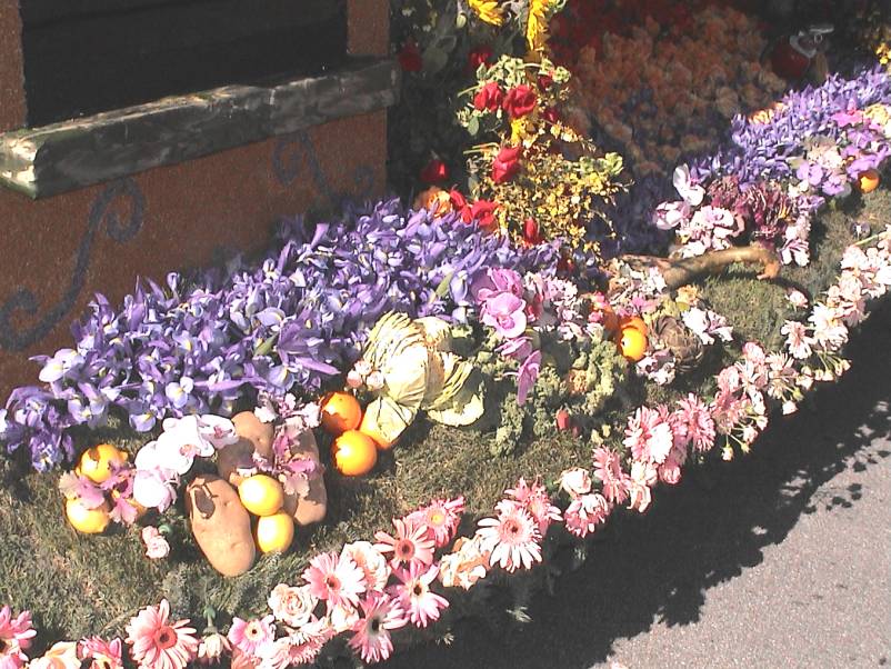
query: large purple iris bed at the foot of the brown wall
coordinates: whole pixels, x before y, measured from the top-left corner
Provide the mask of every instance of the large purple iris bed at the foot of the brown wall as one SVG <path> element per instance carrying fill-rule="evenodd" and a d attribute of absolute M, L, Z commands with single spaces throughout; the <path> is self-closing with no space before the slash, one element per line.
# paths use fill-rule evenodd
<path fill-rule="evenodd" d="M 316 226 L 288 220 L 252 269 L 144 281 L 117 310 L 98 294 L 72 327 L 74 348 L 34 358 L 44 385 L 12 392 L 0 439 L 9 452 L 27 446 L 43 471 L 73 458 L 69 428 L 99 427 L 111 407 L 148 431 L 166 417 L 228 415 L 246 393 L 316 392 L 381 313 L 463 320 L 480 269 L 551 272 L 557 261 L 555 246 L 514 248 L 398 200 Z"/>

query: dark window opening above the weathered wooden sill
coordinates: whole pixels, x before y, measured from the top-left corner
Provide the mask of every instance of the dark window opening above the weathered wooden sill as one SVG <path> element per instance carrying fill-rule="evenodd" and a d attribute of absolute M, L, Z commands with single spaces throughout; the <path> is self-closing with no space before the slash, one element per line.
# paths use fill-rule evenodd
<path fill-rule="evenodd" d="M 346 0 L 20 2 L 30 127 L 320 73 L 347 56 Z"/>

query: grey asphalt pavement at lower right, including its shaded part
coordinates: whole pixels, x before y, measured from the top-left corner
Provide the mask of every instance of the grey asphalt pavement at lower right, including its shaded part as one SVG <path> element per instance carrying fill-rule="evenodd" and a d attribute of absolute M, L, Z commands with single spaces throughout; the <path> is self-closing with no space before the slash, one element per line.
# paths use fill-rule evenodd
<path fill-rule="evenodd" d="M 891 303 L 852 369 L 753 452 L 662 489 L 535 596 L 392 669 L 860 668 L 891 661 Z"/>

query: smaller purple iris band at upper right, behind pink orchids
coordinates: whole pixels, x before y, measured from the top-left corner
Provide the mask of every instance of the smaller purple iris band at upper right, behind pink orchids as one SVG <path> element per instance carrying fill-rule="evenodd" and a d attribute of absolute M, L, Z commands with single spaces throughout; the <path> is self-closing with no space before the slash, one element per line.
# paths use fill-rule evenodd
<path fill-rule="evenodd" d="M 794 173 L 789 159 L 803 153 L 807 138 L 822 136 L 839 141 L 845 128 L 833 116 L 891 102 L 891 78 L 880 67 L 851 79 L 832 74 L 819 87 L 787 94 L 768 122 L 737 116 L 731 142 L 711 157 L 691 166 L 694 181 L 735 176 L 742 184 L 782 181 Z"/>

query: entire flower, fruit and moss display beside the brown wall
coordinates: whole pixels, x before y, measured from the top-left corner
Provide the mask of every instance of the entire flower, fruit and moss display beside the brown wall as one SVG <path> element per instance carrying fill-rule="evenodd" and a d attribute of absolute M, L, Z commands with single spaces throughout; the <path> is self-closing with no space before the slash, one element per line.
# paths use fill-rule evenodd
<path fill-rule="evenodd" d="M 847 370 L 891 288 L 881 31 L 614 4 L 394 4 L 401 198 L 97 294 L 32 358 L 2 666 L 386 660 Z"/>

